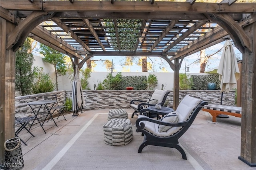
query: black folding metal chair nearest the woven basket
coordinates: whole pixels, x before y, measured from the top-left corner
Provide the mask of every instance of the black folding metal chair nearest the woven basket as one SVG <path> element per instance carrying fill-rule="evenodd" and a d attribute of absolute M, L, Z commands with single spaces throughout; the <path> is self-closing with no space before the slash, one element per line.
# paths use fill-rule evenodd
<path fill-rule="evenodd" d="M 20 138 L 18 136 L 18 134 L 21 132 L 21 130 L 23 130 L 24 128 L 34 137 L 34 134 L 32 134 L 30 132 L 30 130 L 28 128 L 26 128 L 26 125 L 28 125 L 28 123 L 32 120 L 34 120 L 36 118 L 36 116 L 33 116 L 33 117 L 21 117 L 21 118 L 18 118 L 16 119 L 15 118 L 15 125 L 20 125 L 20 127 L 15 131 L 15 136 Z M 26 142 L 24 142 L 21 138 L 20 138 L 21 142 L 24 143 L 26 146 Z"/>

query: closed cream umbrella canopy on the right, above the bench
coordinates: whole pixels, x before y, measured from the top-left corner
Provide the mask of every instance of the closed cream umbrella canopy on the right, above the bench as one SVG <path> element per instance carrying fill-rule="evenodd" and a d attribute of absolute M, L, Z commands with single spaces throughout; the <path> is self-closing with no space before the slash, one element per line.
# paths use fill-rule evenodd
<path fill-rule="evenodd" d="M 220 74 L 220 92 L 229 93 L 240 78 L 236 55 L 230 40 L 225 42 L 217 73 Z"/>

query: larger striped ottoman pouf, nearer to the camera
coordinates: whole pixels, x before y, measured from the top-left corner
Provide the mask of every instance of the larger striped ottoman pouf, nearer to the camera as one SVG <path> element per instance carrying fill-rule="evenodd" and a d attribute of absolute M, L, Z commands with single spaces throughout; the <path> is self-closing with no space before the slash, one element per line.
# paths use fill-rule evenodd
<path fill-rule="evenodd" d="M 112 146 L 124 146 L 133 137 L 130 119 L 111 119 L 103 125 L 104 143 Z"/>

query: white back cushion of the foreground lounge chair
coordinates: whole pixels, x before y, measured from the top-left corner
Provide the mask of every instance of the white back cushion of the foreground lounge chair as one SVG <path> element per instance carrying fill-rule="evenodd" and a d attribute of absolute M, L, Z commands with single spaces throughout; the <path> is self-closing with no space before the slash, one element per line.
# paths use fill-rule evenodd
<path fill-rule="evenodd" d="M 200 101 L 200 99 L 186 95 L 176 110 L 176 113 L 179 116 L 178 122 L 186 121 L 194 108 L 200 103 Z"/>

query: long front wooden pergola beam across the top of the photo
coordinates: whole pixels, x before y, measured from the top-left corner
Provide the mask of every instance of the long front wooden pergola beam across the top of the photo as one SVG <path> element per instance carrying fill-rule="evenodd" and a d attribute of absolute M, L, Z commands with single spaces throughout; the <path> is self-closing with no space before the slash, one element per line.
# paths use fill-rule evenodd
<path fill-rule="evenodd" d="M 16 4 L 16 5 L 13 5 Z M 234 3 L 232 7 L 228 3 L 221 6 L 218 3 L 190 3 L 184 2 L 157 2 L 150 4 L 146 1 L 116 1 L 114 4 L 108 1 L 76 1 L 70 5 L 69 1 L 17 1 L 1 0 L 1 6 L 8 10 L 37 10 L 45 12 L 66 12 L 66 11 L 111 11 L 111 12 L 179 12 L 179 13 L 204 13 L 217 14 L 220 11 L 225 13 L 252 13 L 256 9 L 255 3 Z M 207 10 L 206 10 L 207 9 Z"/>

